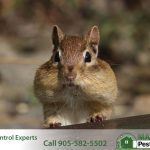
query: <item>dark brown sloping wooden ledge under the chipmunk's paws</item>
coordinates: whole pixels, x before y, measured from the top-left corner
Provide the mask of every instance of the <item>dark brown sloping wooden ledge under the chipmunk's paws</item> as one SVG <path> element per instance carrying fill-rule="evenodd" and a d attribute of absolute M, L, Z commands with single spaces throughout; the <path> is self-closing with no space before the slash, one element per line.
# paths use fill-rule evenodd
<path fill-rule="evenodd" d="M 57 129 L 150 129 L 150 114 L 106 120 L 102 124 L 83 123 L 61 126 Z"/>

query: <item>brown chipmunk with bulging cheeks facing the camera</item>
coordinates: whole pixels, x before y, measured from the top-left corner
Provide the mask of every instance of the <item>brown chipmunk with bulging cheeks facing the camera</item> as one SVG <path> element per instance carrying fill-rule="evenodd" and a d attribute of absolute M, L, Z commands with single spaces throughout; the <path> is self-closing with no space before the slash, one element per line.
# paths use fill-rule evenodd
<path fill-rule="evenodd" d="M 66 35 L 53 27 L 51 59 L 37 70 L 34 80 L 46 127 L 110 118 L 117 83 L 109 64 L 97 57 L 99 41 L 97 26 L 84 36 Z"/>

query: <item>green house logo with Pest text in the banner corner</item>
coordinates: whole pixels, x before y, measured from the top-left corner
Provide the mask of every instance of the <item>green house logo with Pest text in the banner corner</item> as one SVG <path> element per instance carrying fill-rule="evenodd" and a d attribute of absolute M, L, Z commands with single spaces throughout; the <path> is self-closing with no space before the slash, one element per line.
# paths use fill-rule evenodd
<path fill-rule="evenodd" d="M 149 136 L 139 136 L 138 140 L 132 134 L 123 134 L 117 138 L 116 150 L 150 149 Z"/>

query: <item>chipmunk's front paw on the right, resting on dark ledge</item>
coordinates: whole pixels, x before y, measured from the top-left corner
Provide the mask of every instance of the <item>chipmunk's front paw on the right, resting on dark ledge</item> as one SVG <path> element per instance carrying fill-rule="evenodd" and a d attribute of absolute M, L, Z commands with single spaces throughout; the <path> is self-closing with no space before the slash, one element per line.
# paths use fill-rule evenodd
<path fill-rule="evenodd" d="M 88 123 L 102 123 L 103 120 L 106 120 L 106 117 L 102 114 L 95 113 L 93 115 L 90 115 L 90 117 L 87 119 Z"/>

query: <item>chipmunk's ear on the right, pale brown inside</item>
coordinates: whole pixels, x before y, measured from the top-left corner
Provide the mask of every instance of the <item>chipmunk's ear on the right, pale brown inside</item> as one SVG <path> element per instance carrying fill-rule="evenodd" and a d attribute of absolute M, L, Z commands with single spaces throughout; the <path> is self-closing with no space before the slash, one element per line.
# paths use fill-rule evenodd
<path fill-rule="evenodd" d="M 97 26 L 93 26 L 85 35 L 85 38 L 89 44 L 99 44 L 100 35 L 99 35 L 99 29 Z"/>

